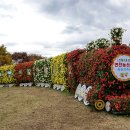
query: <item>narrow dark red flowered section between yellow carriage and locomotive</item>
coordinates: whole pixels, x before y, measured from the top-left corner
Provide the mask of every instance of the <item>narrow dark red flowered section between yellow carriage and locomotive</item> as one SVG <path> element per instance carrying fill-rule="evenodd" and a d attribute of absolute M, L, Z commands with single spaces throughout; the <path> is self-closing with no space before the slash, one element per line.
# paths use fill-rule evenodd
<path fill-rule="evenodd" d="M 75 92 L 76 87 L 79 83 L 78 81 L 78 71 L 77 71 L 77 61 L 79 60 L 79 55 L 85 52 L 85 49 L 77 49 L 71 51 L 67 54 L 67 66 L 68 66 L 68 87 L 71 92 Z"/>

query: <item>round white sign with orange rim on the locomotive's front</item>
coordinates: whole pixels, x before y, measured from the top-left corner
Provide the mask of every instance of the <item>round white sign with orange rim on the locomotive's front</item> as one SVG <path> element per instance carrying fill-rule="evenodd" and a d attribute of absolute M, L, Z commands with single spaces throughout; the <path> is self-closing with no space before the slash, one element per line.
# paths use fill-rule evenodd
<path fill-rule="evenodd" d="M 130 80 L 130 56 L 125 54 L 117 55 L 113 59 L 111 71 L 117 80 Z"/>

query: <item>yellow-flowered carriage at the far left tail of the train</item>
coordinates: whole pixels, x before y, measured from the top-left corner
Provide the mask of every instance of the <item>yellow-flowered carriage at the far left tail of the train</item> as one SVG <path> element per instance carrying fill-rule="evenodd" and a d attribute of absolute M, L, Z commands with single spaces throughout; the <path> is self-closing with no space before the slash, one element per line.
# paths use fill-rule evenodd
<path fill-rule="evenodd" d="M 15 83 L 14 65 L 6 65 L 0 67 L 0 86 L 11 87 Z"/>

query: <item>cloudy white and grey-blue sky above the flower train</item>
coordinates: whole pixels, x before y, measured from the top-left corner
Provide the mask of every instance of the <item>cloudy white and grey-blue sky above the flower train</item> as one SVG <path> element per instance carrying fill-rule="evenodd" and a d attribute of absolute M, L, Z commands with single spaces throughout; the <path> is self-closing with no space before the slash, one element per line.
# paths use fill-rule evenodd
<path fill-rule="evenodd" d="M 13 52 L 55 56 L 97 38 L 112 27 L 127 29 L 129 0 L 0 0 L 0 44 Z"/>

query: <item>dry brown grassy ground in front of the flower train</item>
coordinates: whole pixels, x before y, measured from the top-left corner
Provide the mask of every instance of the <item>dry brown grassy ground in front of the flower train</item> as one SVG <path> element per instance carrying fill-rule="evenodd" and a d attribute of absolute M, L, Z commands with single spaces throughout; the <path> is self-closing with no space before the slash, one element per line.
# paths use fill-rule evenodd
<path fill-rule="evenodd" d="M 0 88 L 0 130 L 130 130 L 130 117 L 92 111 L 49 88 Z"/>

